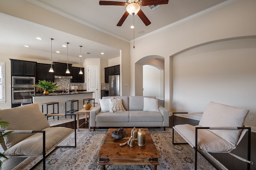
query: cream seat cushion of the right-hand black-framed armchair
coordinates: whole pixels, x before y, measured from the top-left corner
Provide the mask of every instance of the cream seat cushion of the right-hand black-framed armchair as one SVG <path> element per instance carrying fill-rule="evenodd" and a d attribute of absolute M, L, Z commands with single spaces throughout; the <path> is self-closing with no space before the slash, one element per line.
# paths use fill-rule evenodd
<path fill-rule="evenodd" d="M 200 127 L 200 126 L 196 126 Z M 176 125 L 174 127 L 176 132 L 178 132 L 182 138 L 184 138 L 190 146 L 195 146 L 195 131 L 196 128 L 192 125 Z M 218 135 L 214 134 L 208 129 L 198 130 L 198 146 L 199 150 L 212 153 L 222 153 L 229 152 L 236 147 L 227 142 L 226 140 L 220 138 Z"/>

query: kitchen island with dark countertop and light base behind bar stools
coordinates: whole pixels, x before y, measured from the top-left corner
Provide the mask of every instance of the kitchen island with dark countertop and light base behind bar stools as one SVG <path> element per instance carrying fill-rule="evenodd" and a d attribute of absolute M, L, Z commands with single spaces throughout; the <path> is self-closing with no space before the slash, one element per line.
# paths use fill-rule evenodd
<path fill-rule="evenodd" d="M 65 101 L 68 100 L 78 100 L 78 110 L 83 109 L 83 99 L 93 98 L 92 91 L 69 91 L 69 92 L 55 92 L 44 95 L 43 93 L 36 93 L 32 95 L 33 103 L 38 103 L 40 110 L 42 111 L 42 103 L 48 102 L 59 102 L 59 113 L 65 113 Z M 70 110 L 70 105 L 67 105 L 68 111 Z M 74 109 L 76 109 L 77 104 L 74 103 Z M 57 108 L 55 107 L 55 112 Z M 52 107 L 48 107 L 48 113 L 52 113 Z M 44 107 L 44 113 L 46 113 L 46 107 Z"/>

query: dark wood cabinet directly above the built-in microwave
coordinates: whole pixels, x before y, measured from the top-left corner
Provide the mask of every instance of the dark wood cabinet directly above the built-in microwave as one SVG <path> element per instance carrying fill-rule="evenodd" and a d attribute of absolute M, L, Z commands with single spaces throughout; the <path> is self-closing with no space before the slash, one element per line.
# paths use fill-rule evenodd
<path fill-rule="evenodd" d="M 36 77 L 36 62 L 17 59 L 10 60 L 12 76 Z"/>

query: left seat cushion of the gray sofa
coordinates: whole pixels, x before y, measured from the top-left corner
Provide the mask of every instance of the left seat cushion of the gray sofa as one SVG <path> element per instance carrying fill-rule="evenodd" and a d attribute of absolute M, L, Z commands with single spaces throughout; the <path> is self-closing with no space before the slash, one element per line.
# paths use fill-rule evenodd
<path fill-rule="evenodd" d="M 96 115 L 96 122 L 129 122 L 129 111 L 122 112 L 100 112 Z"/>

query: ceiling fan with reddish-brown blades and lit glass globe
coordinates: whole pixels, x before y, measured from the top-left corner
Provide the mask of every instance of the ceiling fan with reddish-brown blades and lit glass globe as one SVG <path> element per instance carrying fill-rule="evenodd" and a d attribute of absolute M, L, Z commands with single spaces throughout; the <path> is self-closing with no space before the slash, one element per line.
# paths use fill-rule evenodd
<path fill-rule="evenodd" d="M 100 0 L 100 5 L 116 5 L 116 6 L 127 6 L 126 12 L 119 20 L 116 26 L 122 26 L 126 18 L 129 14 L 132 16 L 138 14 L 142 22 L 146 26 L 151 24 L 150 20 L 146 17 L 146 15 L 140 9 L 140 6 L 149 6 L 149 5 L 159 5 L 159 4 L 168 4 L 168 0 L 126 0 L 126 2 L 118 2 L 118 1 L 102 1 Z"/>

